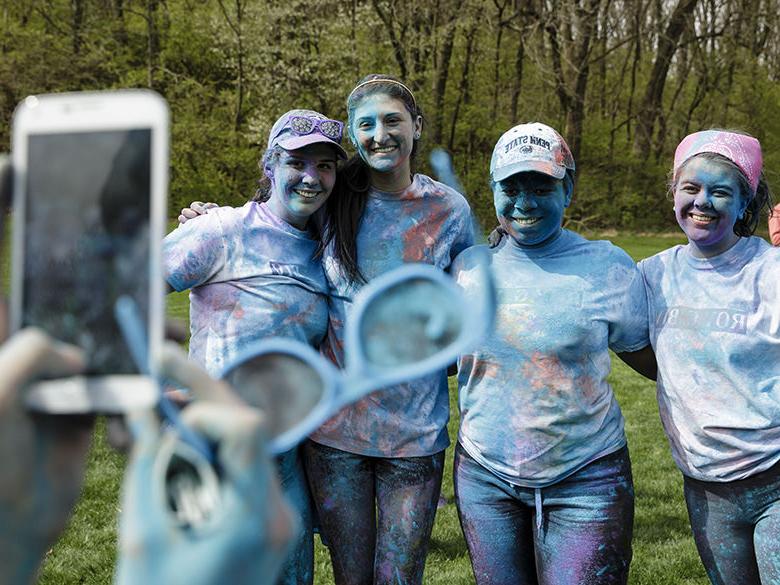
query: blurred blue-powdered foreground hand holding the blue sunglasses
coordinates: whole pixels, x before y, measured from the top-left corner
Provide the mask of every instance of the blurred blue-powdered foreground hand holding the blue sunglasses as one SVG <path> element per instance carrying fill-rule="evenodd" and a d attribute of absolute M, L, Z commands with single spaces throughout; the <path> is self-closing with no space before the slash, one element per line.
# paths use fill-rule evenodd
<path fill-rule="evenodd" d="M 165 347 L 161 369 L 196 398 L 182 418 L 216 446 L 218 489 L 216 497 L 209 492 L 204 498 L 192 485 L 166 482 L 176 437 L 161 429 L 154 413 L 134 415 L 136 442 L 122 488 L 116 583 L 274 583 L 297 522 L 265 451 L 261 412 L 240 402 L 173 344 Z M 180 502 L 196 516 L 203 512 L 202 522 L 177 521 L 169 496 L 178 489 L 184 490 Z"/>

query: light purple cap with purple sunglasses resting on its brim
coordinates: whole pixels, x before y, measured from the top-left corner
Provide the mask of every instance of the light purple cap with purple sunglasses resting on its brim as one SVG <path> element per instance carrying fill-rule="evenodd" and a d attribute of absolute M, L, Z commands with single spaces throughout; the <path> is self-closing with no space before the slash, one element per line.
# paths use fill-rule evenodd
<path fill-rule="evenodd" d="M 322 124 L 327 125 L 328 132 L 323 130 Z M 301 132 L 301 126 L 307 131 Z M 311 130 L 308 130 L 309 126 Z M 310 144 L 324 143 L 332 145 L 339 158 L 346 159 L 347 152 L 340 144 L 343 128 L 342 122 L 331 120 L 314 110 L 290 110 L 282 114 L 271 128 L 268 148 L 278 145 L 285 150 L 297 150 Z"/>

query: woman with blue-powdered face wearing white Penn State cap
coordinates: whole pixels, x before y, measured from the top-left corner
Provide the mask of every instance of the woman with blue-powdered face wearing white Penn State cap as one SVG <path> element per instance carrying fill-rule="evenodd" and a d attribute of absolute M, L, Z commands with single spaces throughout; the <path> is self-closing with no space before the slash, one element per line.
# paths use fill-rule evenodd
<path fill-rule="evenodd" d="M 574 159 L 552 128 L 515 126 L 490 172 L 509 237 L 490 250 L 496 327 L 458 361 L 455 497 L 476 582 L 626 583 L 634 491 L 612 349 L 653 375 L 642 278 L 608 242 L 562 229 Z M 476 248 L 453 265 L 478 294 Z"/>

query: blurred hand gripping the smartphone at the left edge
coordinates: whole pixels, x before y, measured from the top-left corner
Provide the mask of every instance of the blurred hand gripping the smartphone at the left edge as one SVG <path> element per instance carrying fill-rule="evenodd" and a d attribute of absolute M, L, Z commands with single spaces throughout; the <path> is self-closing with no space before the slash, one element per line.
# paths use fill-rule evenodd
<path fill-rule="evenodd" d="M 0 348 L 0 583 L 30 583 L 81 492 L 93 417 L 32 415 L 29 380 L 77 374 L 80 349 L 25 329 Z"/>

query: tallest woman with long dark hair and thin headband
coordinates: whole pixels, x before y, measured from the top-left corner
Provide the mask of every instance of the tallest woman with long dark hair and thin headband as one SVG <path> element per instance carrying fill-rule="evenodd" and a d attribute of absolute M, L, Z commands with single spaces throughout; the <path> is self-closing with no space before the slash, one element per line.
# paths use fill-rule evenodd
<path fill-rule="evenodd" d="M 422 113 L 397 79 L 365 77 L 347 99 L 357 156 L 329 202 L 324 264 L 330 284 L 323 353 L 344 365 L 344 324 L 363 283 L 405 262 L 446 270 L 473 243 L 463 196 L 411 163 Z M 376 392 L 345 408 L 304 446 L 306 471 L 336 583 L 422 583 L 444 450 L 444 371 Z"/>

